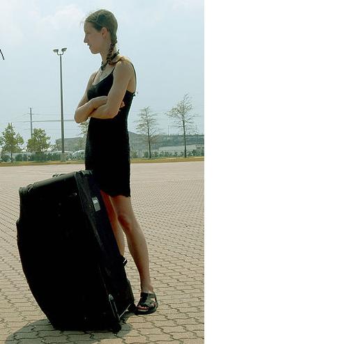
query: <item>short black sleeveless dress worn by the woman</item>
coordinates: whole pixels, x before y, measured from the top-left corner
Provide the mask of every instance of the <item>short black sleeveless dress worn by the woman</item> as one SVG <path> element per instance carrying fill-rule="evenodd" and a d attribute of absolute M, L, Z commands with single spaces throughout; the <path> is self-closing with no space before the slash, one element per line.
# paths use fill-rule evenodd
<path fill-rule="evenodd" d="M 108 95 L 113 84 L 113 71 L 89 88 L 88 100 L 100 95 Z M 130 197 L 128 114 L 134 95 L 135 93 L 126 91 L 123 98 L 125 106 L 114 118 L 89 119 L 84 155 L 85 168 L 93 171 L 100 189 L 109 196 Z"/>

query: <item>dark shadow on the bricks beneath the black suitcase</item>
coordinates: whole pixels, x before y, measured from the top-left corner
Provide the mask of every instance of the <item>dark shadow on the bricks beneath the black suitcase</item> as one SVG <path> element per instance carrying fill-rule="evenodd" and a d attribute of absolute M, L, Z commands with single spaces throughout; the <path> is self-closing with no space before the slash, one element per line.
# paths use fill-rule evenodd
<path fill-rule="evenodd" d="M 85 341 L 88 344 L 98 343 L 102 339 L 125 337 L 132 329 L 126 321 L 134 313 L 126 313 L 121 318 L 121 330 L 114 334 L 111 331 L 59 331 L 52 327 L 47 319 L 31 322 L 6 338 L 5 344 L 43 344 L 43 343 L 76 343 Z"/>

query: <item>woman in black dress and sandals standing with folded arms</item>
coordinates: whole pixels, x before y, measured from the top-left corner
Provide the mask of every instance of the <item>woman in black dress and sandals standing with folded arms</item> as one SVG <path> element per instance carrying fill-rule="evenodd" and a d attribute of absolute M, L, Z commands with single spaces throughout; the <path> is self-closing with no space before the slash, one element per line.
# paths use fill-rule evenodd
<path fill-rule="evenodd" d="M 128 248 L 139 271 L 141 295 L 137 314 L 158 308 L 149 273 L 149 253 L 144 233 L 132 210 L 130 199 L 130 148 L 128 113 L 136 90 L 136 73 L 128 58 L 116 49 L 118 24 L 108 10 L 98 10 L 84 21 L 84 43 L 102 64 L 89 78 L 75 111 L 75 121 L 89 118 L 85 165 L 93 171 L 105 202 L 116 242 L 124 254 Z"/>

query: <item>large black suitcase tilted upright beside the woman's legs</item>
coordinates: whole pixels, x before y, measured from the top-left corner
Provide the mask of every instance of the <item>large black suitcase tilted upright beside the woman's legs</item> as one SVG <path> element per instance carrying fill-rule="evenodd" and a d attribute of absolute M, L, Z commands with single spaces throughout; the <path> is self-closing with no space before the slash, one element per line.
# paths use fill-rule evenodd
<path fill-rule="evenodd" d="M 52 326 L 119 331 L 134 297 L 91 172 L 57 175 L 19 193 L 22 269 Z"/>

